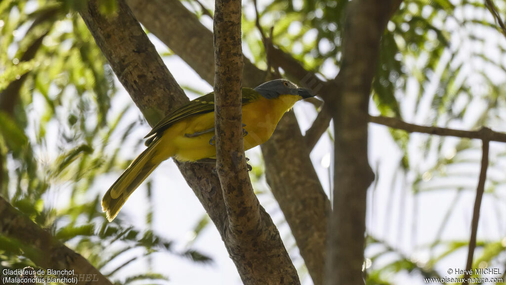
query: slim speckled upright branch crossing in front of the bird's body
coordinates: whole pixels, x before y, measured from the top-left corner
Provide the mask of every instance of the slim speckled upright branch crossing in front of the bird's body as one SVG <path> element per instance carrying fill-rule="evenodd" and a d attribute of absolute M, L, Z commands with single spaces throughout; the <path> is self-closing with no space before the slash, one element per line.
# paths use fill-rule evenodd
<path fill-rule="evenodd" d="M 241 103 L 241 2 L 215 2 L 214 50 L 216 169 L 223 190 L 229 229 L 244 241 L 245 232 L 256 232 L 259 202 L 253 192 L 244 157 Z M 248 234 L 248 235 L 249 235 Z"/>

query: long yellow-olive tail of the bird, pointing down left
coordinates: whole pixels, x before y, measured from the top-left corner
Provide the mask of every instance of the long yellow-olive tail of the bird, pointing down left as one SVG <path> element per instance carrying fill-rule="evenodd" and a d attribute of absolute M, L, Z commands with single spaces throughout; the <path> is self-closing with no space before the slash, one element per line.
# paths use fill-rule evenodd
<path fill-rule="evenodd" d="M 116 218 L 126 199 L 162 162 L 162 160 L 155 159 L 159 142 L 160 139 L 151 142 L 149 147 L 132 161 L 132 164 L 123 171 L 121 176 L 105 193 L 104 198 L 102 198 L 102 210 L 106 212 L 109 222 Z"/>

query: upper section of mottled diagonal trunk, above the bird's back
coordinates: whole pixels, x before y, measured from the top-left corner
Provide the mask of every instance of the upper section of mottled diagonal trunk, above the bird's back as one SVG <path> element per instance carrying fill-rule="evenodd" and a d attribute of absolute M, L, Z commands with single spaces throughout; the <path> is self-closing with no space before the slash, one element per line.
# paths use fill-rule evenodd
<path fill-rule="evenodd" d="M 118 1 L 111 15 L 101 14 L 97 6 L 91 1 L 79 14 L 148 123 L 156 124 L 188 102 L 128 6 Z"/>

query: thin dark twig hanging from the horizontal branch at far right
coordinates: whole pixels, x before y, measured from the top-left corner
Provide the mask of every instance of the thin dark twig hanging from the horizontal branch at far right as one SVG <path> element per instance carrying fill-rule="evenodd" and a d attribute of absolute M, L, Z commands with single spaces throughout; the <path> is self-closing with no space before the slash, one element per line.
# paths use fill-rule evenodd
<path fill-rule="evenodd" d="M 471 276 L 469 272 L 472 270 L 473 266 L 473 256 L 474 250 L 476 248 L 476 234 L 478 233 L 478 222 L 480 220 L 481 200 L 483 198 L 483 192 L 485 192 L 485 181 L 487 180 L 488 150 L 490 147 L 490 140 L 488 137 L 491 135 L 491 130 L 484 128 L 482 129 L 482 133 L 484 138 L 482 139 L 480 179 L 478 181 L 478 187 L 476 189 L 476 198 L 473 208 L 473 220 L 471 221 L 471 237 L 469 239 L 468 260 L 466 262 L 466 274 L 464 275 L 464 281 L 462 282 L 462 285 L 469 284 L 469 277 Z"/>

